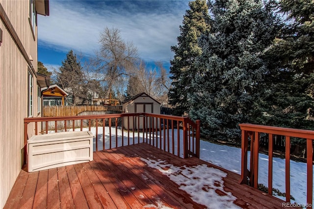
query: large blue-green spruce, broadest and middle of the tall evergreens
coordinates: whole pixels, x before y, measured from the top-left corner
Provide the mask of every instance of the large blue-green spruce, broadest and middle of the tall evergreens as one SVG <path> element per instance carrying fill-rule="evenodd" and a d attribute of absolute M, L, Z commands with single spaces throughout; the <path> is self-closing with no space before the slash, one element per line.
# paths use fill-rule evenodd
<path fill-rule="evenodd" d="M 211 31 L 200 39 L 202 55 L 188 99 L 211 138 L 240 139 L 238 124 L 251 122 L 267 73 L 264 50 L 275 38 L 278 19 L 262 0 L 208 1 Z"/>

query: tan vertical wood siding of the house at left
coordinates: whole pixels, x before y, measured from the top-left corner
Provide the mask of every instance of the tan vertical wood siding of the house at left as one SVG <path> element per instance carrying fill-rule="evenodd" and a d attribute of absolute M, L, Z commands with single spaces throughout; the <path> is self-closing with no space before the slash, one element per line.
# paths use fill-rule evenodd
<path fill-rule="evenodd" d="M 0 0 L 27 55 L 31 56 L 37 71 L 37 38 L 34 40 L 28 21 L 28 0 Z M 3 13 L 1 14 L 3 16 Z M 0 21 L 0 208 L 3 208 L 10 190 L 21 171 L 24 148 L 24 118 L 27 117 L 27 70 L 25 55 Z M 37 29 L 34 31 L 37 37 Z M 37 82 L 33 75 L 33 116 L 37 116 Z M 29 127 L 33 130 L 34 127 Z"/>

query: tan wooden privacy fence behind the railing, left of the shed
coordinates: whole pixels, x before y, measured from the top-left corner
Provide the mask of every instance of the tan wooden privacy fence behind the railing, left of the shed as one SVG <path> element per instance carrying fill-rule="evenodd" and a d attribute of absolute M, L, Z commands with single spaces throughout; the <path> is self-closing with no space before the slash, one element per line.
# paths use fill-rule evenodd
<path fill-rule="evenodd" d="M 67 116 L 78 116 L 78 115 L 105 115 L 105 114 L 116 114 L 122 113 L 122 105 L 109 106 L 109 105 L 75 105 L 75 106 L 44 106 L 43 117 L 67 117 Z M 72 127 L 72 120 L 67 121 L 67 125 Z M 75 127 L 80 127 L 80 121 L 74 121 Z M 53 121 L 43 124 L 43 129 L 48 130 L 54 129 Z M 57 129 L 62 129 L 64 124 L 58 123 Z M 88 126 L 88 120 L 83 121 L 83 127 Z"/>

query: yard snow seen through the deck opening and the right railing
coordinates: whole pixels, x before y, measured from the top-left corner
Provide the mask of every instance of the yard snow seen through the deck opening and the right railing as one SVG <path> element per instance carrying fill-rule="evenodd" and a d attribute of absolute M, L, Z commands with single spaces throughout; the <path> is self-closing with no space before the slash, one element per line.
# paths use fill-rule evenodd
<path fill-rule="evenodd" d="M 226 145 L 213 144 L 207 141 L 200 142 L 200 158 L 211 164 L 225 168 L 237 174 L 241 174 L 241 149 Z M 250 152 L 248 152 L 248 165 Z M 286 191 L 285 170 L 286 161 L 278 157 L 273 157 L 273 188 L 281 192 Z M 306 204 L 306 178 L 307 164 L 290 160 L 290 190 L 295 202 Z M 268 187 L 268 156 L 259 154 L 259 183 Z M 276 197 L 286 200 L 286 197 Z M 293 200 L 291 200 L 293 202 Z"/>

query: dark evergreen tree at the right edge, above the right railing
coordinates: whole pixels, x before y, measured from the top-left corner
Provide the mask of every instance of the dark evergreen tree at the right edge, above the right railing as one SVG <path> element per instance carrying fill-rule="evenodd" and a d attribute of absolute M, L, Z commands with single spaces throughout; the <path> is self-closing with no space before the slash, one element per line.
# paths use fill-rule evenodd
<path fill-rule="evenodd" d="M 287 17 L 281 36 L 268 50 L 272 65 L 265 77 L 268 90 L 261 95 L 259 123 L 299 129 L 313 129 L 309 108 L 313 107 L 314 1 L 281 0 Z"/>

